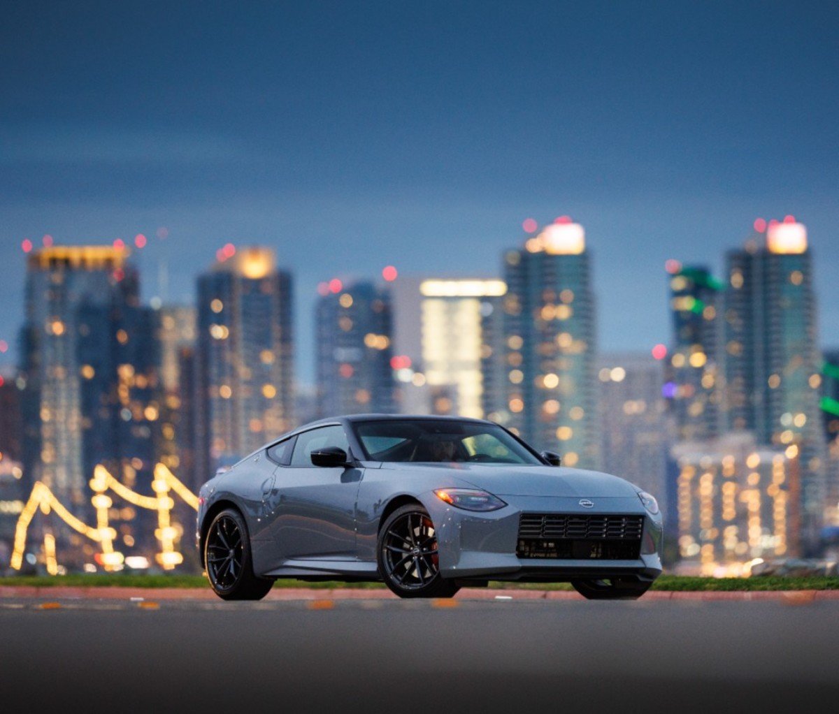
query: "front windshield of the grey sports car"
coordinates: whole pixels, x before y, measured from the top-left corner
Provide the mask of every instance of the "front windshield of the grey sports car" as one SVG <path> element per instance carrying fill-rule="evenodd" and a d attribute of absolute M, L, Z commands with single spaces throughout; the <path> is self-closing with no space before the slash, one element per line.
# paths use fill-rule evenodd
<path fill-rule="evenodd" d="M 354 429 L 366 458 L 372 461 L 542 463 L 494 424 L 393 419 L 357 422 Z"/>

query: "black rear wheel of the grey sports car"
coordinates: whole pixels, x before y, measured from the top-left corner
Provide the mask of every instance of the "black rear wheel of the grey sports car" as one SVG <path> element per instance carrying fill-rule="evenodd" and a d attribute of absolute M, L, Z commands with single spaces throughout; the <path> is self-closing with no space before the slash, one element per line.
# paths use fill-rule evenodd
<path fill-rule="evenodd" d="M 253 575 L 251 542 L 242 515 L 229 508 L 219 512 L 207 530 L 204 544 L 207 579 L 224 600 L 261 600 L 273 580 Z"/>

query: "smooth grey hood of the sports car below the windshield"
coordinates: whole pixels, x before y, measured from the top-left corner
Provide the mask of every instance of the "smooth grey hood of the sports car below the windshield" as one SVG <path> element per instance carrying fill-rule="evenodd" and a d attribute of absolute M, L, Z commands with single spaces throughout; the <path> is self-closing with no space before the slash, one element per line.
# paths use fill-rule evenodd
<path fill-rule="evenodd" d="M 497 496 L 635 498 L 638 494 L 638 488 L 626 479 L 583 468 L 499 463 L 441 463 L 414 468 L 435 477 L 435 484 L 439 484 L 435 488 L 472 487 Z"/>

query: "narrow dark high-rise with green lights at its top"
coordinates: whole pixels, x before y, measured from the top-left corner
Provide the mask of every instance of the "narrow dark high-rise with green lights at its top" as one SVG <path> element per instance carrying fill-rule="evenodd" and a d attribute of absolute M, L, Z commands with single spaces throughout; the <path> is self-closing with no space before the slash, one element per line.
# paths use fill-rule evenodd
<path fill-rule="evenodd" d="M 720 433 L 723 375 L 719 358 L 722 282 L 705 266 L 668 261 L 673 341 L 670 380 L 665 386 L 680 440 L 696 441 Z"/>

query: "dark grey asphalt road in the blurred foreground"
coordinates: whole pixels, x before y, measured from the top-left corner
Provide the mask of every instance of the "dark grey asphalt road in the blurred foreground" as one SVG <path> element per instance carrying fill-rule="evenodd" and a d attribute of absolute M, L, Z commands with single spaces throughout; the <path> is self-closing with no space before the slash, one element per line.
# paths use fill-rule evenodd
<path fill-rule="evenodd" d="M 0 711 L 828 711 L 839 600 L 0 600 Z"/>

